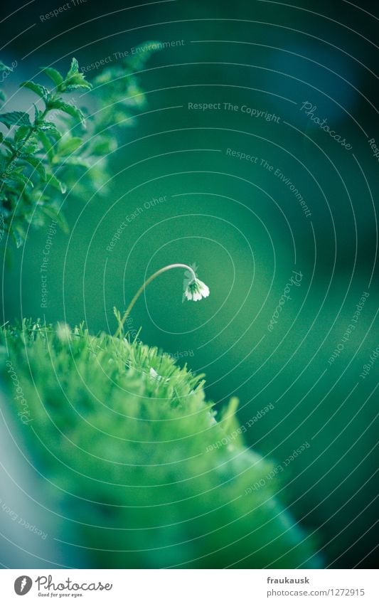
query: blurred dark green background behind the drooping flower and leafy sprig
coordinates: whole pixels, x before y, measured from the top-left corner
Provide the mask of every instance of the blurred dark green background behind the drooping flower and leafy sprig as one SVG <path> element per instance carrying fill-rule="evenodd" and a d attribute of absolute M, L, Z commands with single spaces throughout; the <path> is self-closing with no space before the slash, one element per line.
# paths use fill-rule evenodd
<path fill-rule="evenodd" d="M 237 395 L 242 423 L 272 403 L 247 444 L 282 462 L 309 441 L 287 470 L 284 501 L 317 530 L 326 566 L 373 566 L 378 366 L 365 379 L 360 373 L 378 346 L 378 163 L 368 144 L 379 138 L 375 18 L 347 3 L 324 5 L 321 16 L 304 0 L 299 9 L 247 0 L 131 6 L 88 0 L 41 22 L 51 6 L 39 2 L 7 21 L 9 40 L 35 23 L 1 57 L 18 60 L 6 81 L 17 109 L 32 102 L 31 93 L 16 92 L 18 83 L 40 65 L 59 68 L 73 55 L 89 65 L 146 40 L 184 43 L 154 53 L 141 73 L 149 105 L 110 158 L 108 194 L 63 198 L 70 234 L 53 236 L 46 308 L 39 267 L 47 233 L 31 230 L 12 250 L 4 321 L 84 319 L 93 333 L 114 332 L 114 305 L 124 309 L 146 276 L 168 263 L 195 263 L 209 299 L 182 303 L 183 275 L 171 271 L 139 300 L 133 328 L 142 326 L 146 344 L 204 371 L 218 406 Z M 80 101 L 90 105 L 90 94 Z M 224 102 L 238 109 L 224 110 Z M 312 122 L 304 102 L 352 149 Z M 220 110 L 188 103 L 220 103 Z M 279 120 L 250 117 L 243 105 Z M 269 332 L 294 270 L 301 284 Z M 330 365 L 363 292 L 356 329 Z"/>

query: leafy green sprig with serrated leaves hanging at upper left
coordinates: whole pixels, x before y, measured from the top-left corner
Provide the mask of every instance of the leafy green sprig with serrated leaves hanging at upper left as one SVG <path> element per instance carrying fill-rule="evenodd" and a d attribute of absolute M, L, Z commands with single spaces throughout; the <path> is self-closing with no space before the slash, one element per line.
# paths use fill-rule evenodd
<path fill-rule="evenodd" d="M 138 63 L 122 60 L 97 75 L 93 85 L 75 58 L 66 75 L 43 68 L 49 87 L 21 83 L 38 96 L 33 115 L 0 114 L 8 129 L 5 135 L 0 132 L 0 213 L 17 247 L 31 224 L 38 228 L 54 219 L 67 230 L 60 210 L 66 192 L 83 198 L 107 191 L 108 158 L 117 149 L 115 127 L 132 125 L 130 118 L 146 102 L 133 72 L 148 57 L 146 53 Z M 0 63 L 0 70 L 9 68 Z M 90 92 L 92 113 L 75 99 L 67 100 L 68 93 L 75 92 Z"/>

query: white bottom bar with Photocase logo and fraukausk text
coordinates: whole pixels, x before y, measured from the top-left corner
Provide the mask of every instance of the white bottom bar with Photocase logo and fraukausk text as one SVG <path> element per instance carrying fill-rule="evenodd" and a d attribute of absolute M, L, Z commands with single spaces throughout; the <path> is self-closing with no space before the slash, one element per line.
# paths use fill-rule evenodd
<path fill-rule="evenodd" d="M 378 604 L 370 570 L 2 570 L 1 602 Z M 25 595 L 25 600 L 20 598 Z"/>

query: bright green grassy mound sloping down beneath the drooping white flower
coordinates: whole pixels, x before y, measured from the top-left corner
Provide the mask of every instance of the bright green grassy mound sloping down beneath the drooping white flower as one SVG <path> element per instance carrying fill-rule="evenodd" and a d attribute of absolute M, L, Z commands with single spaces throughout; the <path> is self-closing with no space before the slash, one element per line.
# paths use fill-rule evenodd
<path fill-rule="evenodd" d="M 18 440 L 63 517 L 57 536 L 83 566 L 319 565 L 273 481 L 252 489 L 273 465 L 235 436 L 235 400 L 216 421 L 203 376 L 170 356 L 82 327 L 24 322 L 1 334 L 1 373 Z"/>

